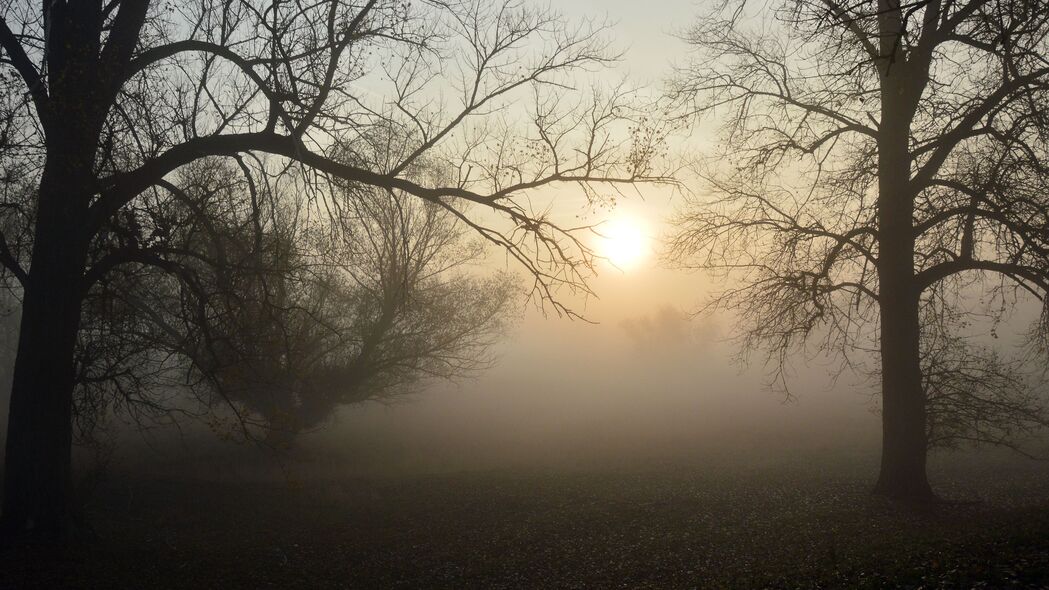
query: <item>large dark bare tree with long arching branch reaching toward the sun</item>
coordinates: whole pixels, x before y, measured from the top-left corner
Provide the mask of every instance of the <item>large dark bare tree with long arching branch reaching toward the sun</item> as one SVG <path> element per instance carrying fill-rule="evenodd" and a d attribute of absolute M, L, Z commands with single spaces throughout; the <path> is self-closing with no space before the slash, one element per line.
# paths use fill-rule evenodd
<path fill-rule="evenodd" d="M 179 168 L 276 156 L 333 218 L 356 198 L 320 190 L 336 180 L 423 198 L 547 300 L 583 285 L 591 255 L 528 191 L 657 176 L 629 97 L 575 84 L 612 59 L 602 27 L 513 0 L 15 1 L 0 17 L 2 211 L 19 228 L 0 261 L 24 293 L 7 531 L 65 527 L 85 297 L 117 268 L 177 272 L 157 255 L 166 229 L 141 222 Z M 447 182 L 412 180 L 422 160 Z"/>

